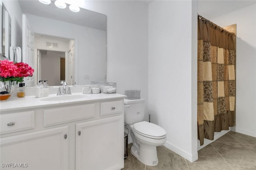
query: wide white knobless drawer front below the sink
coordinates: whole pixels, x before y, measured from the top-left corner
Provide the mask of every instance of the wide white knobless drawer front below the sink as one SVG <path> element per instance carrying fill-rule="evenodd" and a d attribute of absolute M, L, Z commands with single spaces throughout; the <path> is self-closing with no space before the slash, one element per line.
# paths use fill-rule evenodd
<path fill-rule="evenodd" d="M 95 117 L 95 104 L 44 109 L 44 127 Z"/>

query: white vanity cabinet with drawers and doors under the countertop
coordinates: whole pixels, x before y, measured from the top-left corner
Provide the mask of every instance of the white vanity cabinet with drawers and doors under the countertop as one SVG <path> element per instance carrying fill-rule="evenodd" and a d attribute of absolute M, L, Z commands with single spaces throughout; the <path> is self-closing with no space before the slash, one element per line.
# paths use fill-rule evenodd
<path fill-rule="evenodd" d="M 120 170 L 123 98 L 1 110 L 1 170 Z"/>

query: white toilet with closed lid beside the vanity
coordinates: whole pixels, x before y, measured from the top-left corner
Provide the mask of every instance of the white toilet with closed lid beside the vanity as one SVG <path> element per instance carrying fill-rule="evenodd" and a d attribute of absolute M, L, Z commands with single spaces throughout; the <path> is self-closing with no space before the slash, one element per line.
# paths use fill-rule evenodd
<path fill-rule="evenodd" d="M 131 153 L 143 164 L 158 164 L 156 147 L 166 142 L 166 131 L 144 119 L 145 99 L 124 99 L 124 123 L 132 137 Z"/>

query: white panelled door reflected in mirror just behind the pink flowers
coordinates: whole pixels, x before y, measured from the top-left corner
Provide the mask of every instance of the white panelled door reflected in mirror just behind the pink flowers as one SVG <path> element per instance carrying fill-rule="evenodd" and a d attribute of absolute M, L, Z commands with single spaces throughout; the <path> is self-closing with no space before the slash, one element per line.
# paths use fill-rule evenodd
<path fill-rule="evenodd" d="M 28 18 L 22 14 L 22 61 L 34 68 L 34 32 Z M 34 86 L 34 76 L 24 78 L 27 86 Z"/>

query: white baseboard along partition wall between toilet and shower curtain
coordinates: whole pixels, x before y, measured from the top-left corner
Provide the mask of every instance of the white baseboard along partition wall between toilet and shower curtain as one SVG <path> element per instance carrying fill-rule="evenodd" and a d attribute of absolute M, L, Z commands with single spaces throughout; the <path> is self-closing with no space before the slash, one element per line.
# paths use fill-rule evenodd
<path fill-rule="evenodd" d="M 176 145 L 173 145 L 172 143 L 170 143 L 168 141 L 164 144 L 164 146 L 166 148 L 172 150 L 176 154 L 179 154 L 186 160 L 189 160 L 190 162 L 194 162 L 194 161 L 198 160 L 198 152 L 190 154 L 190 153 L 186 152 L 185 150 L 180 149 L 179 147 L 177 147 Z"/>

